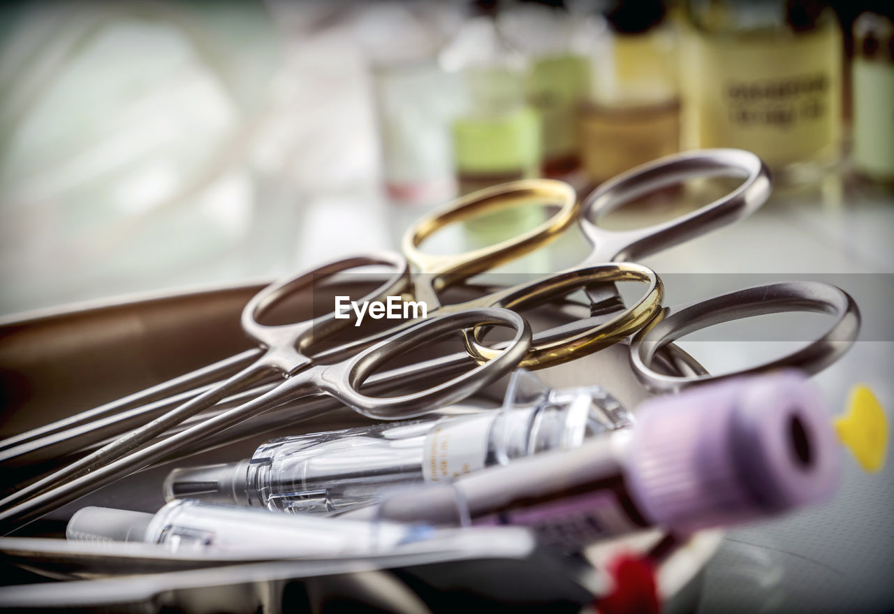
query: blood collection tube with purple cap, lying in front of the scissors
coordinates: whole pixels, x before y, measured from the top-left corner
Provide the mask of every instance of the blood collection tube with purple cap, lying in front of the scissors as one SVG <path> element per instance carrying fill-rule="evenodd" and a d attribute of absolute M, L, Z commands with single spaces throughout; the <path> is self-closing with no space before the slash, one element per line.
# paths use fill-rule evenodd
<path fill-rule="evenodd" d="M 689 534 L 830 498 L 838 448 L 818 391 L 779 372 L 647 400 L 631 428 L 393 492 L 345 517 L 531 526 L 569 549 L 648 526 Z"/>

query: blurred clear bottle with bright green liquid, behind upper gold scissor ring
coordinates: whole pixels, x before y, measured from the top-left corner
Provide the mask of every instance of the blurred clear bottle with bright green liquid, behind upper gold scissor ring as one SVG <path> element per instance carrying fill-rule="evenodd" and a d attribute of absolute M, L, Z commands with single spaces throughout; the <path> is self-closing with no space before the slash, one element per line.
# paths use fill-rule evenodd
<path fill-rule="evenodd" d="M 471 16 L 441 54 L 456 73 L 462 107 L 452 122 L 453 164 L 460 194 L 540 172 L 540 121 L 525 96 L 525 60 L 497 27 L 496 0 L 471 3 Z M 539 206 L 517 206 L 463 223 L 466 248 L 482 248 L 517 236 L 544 221 Z M 543 255 L 537 255 L 543 257 Z M 517 262 L 538 272 L 546 262 Z"/>

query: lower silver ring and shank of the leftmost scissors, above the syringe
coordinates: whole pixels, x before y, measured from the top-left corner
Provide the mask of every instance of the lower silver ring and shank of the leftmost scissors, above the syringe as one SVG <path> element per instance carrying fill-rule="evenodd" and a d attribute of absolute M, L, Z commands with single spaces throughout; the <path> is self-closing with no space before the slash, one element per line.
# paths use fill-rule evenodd
<path fill-rule="evenodd" d="M 257 303 L 263 303 L 263 301 L 249 302 L 244 314 L 249 313 L 249 307 L 260 307 Z M 14 495 L 7 497 L 4 500 L 5 509 L 0 511 L 0 529 L 9 532 L 17 526 L 17 523 L 27 522 L 50 509 L 78 499 L 86 492 L 110 484 L 132 471 L 146 467 L 159 458 L 164 458 L 171 450 L 197 442 L 208 435 L 219 433 L 249 416 L 272 408 L 283 399 L 294 399 L 316 392 L 324 392 L 365 416 L 379 419 L 387 420 L 426 413 L 443 404 L 462 400 L 481 386 L 492 383 L 501 375 L 508 373 L 525 356 L 531 345 L 530 326 L 524 318 L 515 312 L 500 308 L 468 309 L 414 324 L 384 341 L 379 341 L 348 360 L 329 365 L 313 365 L 308 357 L 299 353 L 296 346 L 301 338 L 311 330 L 314 321 L 266 326 L 258 324 L 254 317 L 250 317 L 248 320 L 249 322 L 243 321 L 243 324 L 246 324 L 246 329 L 257 341 L 265 344 L 266 353 L 255 366 L 243 370 L 220 388 L 233 390 L 240 383 L 249 381 L 256 372 L 270 368 L 290 374 L 288 379 L 254 400 L 208 418 L 181 433 L 170 435 L 160 442 L 133 451 L 126 456 L 118 453 L 120 447 L 115 447 L 115 444 L 119 444 L 119 442 L 131 443 L 128 436 L 97 450 L 88 457 L 95 461 L 95 464 L 91 466 L 95 467 L 92 471 L 84 471 L 78 467 L 78 463 L 74 463 L 70 467 L 75 467 L 75 469 L 68 468 L 67 471 L 63 469 L 62 472 L 57 472 L 58 475 L 72 474 L 72 477 L 63 484 L 40 491 L 30 499 L 12 507 L 5 507 L 8 505 L 6 501 L 16 501 L 19 498 Z M 476 366 L 447 382 L 434 384 L 423 391 L 386 397 L 370 397 L 359 391 L 367 378 L 392 358 L 417 347 L 420 343 L 432 341 L 447 333 L 458 332 L 477 324 L 510 326 L 515 331 L 513 339 L 502 351 L 500 357 Z M 211 398 L 214 398 L 221 392 L 208 391 L 206 394 L 213 395 Z M 201 396 L 197 399 L 200 399 Z M 165 416 L 170 416 L 170 413 Z M 164 419 L 165 416 L 159 420 Z M 134 439 L 137 442 L 144 442 L 143 435 L 149 431 L 143 433 L 139 433 L 139 431 L 140 429 L 135 432 L 139 434 L 139 438 Z M 110 462 L 105 462 L 110 457 Z M 50 477 L 55 476 L 51 475 Z M 27 488 L 23 489 L 26 496 L 32 494 L 32 492 L 27 492 L 28 490 Z"/>

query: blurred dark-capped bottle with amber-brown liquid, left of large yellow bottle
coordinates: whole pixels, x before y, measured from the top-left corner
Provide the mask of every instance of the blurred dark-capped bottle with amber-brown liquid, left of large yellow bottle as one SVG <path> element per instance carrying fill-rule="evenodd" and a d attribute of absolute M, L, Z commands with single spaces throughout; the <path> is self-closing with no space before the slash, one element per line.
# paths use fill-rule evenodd
<path fill-rule="evenodd" d="M 618 2 L 594 34 L 581 156 L 601 183 L 679 151 L 678 36 L 661 0 Z"/>

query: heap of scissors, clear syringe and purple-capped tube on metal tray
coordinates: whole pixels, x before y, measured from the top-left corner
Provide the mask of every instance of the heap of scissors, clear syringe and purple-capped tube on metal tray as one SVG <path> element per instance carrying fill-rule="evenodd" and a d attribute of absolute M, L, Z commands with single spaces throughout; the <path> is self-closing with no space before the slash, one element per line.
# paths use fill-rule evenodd
<path fill-rule="evenodd" d="M 742 183 L 692 213 L 651 227 L 607 231 L 596 225 L 603 214 L 655 189 L 718 176 Z M 859 312 L 853 299 L 825 283 L 777 282 L 664 307 L 658 275 L 630 262 L 753 213 L 769 190 L 769 175 L 756 156 L 716 149 L 637 167 L 605 182 L 579 207 L 573 189 L 550 180 L 516 181 L 460 198 L 410 226 L 405 256 L 348 257 L 258 292 L 241 316 L 257 349 L 0 442 L 0 463 L 25 466 L 47 445 L 52 450 L 58 443 L 65 453 L 84 450 L 70 465 L 8 492 L 0 500 L 0 528 L 4 534 L 21 530 L 174 454 L 236 439 L 243 425 L 269 410 L 282 409 L 277 414 L 282 424 L 293 425 L 319 415 L 325 395 L 379 421 L 424 416 L 513 371 L 518 378 L 519 367 L 558 367 L 619 344 L 645 390 L 664 394 L 641 404 L 635 416 L 610 394 L 590 390 L 562 402 L 552 399 L 552 406 L 534 403 L 417 425 L 375 425 L 326 442 L 291 438 L 258 449 L 250 463 L 236 468 L 174 473 L 168 495 L 219 501 L 226 500 L 219 491 L 228 489 L 231 502 L 339 512 L 375 523 L 535 526 L 547 541 L 571 549 L 647 526 L 689 534 L 822 500 L 836 481 L 836 450 L 831 427 L 821 420 L 822 404 L 805 391 L 804 375 L 745 376 L 783 368 L 814 374 L 831 364 L 856 339 Z M 550 208 L 552 217 L 519 237 L 460 255 L 434 256 L 420 249 L 447 224 L 523 205 Z M 477 274 L 555 239 L 575 220 L 592 245 L 579 265 L 471 299 L 445 301 L 447 290 L 461 289 Z M 364 325 L 355 332 L 356 314 L 337 308 L 291 324 L 266 318 L 295 295 L 370 265 L 387 273 L 356 302 L 385 304 L 400 297 L 426 310 L 388 323 L 384 331 Z M 616 282 L 638 282 L 645 291 L 628 306 Z M 535 333 L 519 314 L 578 290 L 588 302 L 577 304 L 586 315 Z M 704 326 L 789 311 L 831 315 L 831 324 L 804 348 L 760 366 L 708 374 L 673 345 Z M 487 341 L 494 326 L 510 329 L 510 341 Z M 441 344 L 446 354 L 400 364 L 413 350 L 448 338 L 452 343 Z M 171 395 L 175 398 L 166 400 Z M 221 401 L 226 404 L 218 405 Z M 590 420 L 595 409 L 599 419 Z M 437 456 L 446 453 L 444 435 L 455 440 L 450 458 Z M 97 449 L 110 436 L 116 438 Z M 364 458 L 363 450 L 375 451 L 381 462 Z M 707 467 L 694 472 L 701 463 L 693 454 L 710 458 Z M 403 465 L 412 470 L 409 480 L 394 478 Z M 378 482 L 369 479 L 376 472 Z M 417 481 L 436 484 L 404 492 L 378 489 Z M 346 484 L 350 488 L 338 492 Z M 597 500 L 609 502 L 603 506 Z M 102 514 L 109 512 L 97 512 Z"/>

